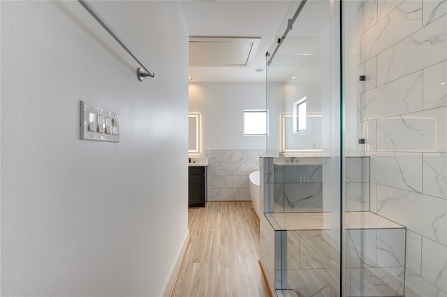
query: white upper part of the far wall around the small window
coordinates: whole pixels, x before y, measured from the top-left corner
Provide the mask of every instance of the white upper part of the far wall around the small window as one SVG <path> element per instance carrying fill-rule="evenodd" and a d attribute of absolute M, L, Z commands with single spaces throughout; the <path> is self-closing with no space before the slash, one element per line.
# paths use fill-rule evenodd
<path fill-rule="evenodd" d="M 244 136 L 244 109 L 265 109 L 265 83 L 191 82 L 189 112 L 200 113 L 201 153 L 210 149 L 261 149 L 265 136 Z"/>

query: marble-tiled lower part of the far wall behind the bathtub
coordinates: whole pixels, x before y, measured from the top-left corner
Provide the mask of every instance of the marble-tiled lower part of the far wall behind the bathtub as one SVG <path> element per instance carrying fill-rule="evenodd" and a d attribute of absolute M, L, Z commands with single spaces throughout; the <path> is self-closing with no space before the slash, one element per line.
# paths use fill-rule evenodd
<path fill-rule="evenodd" d="M 208 201 L 251 200 L 249 174 L 259 170 L 260 150 L 210 150 L 208 152 Z"/>

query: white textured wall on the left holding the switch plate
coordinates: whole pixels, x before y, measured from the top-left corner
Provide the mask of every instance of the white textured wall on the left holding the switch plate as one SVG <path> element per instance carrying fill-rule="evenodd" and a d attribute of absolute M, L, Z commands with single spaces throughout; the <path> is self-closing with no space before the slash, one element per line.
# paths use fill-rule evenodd
<path fill-rule="evenodd" d="M 154 79 L 77 1 L 1 2 L 2 296 L 161 296 L 187 238 L 181 6 L 91 4 Z M 79 139 L 80 100 L 121 142 Z"/>

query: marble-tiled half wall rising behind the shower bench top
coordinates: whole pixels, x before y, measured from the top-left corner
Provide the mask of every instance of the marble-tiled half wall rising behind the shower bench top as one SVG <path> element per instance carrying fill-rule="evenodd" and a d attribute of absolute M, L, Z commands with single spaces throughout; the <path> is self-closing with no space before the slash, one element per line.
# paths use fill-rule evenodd
<path fill-rule="evenodd" d="M 265 201 L 268 213 L 297 213 L 330 211 L 332 196 L 328 189 L 330 176 L 326 172 L 326 158 L 321 165 L 300 165 L 300 160 L 293 165 L 282 165 L 291 158 L 264 159 L 270 172 L 264 177 L 265 190 L 273 201 Z M 269 163 L 270 162 L 270 163 Z M 369 211 L 369 157 L 349 157 L 346 166 L 346 211 Z"/>

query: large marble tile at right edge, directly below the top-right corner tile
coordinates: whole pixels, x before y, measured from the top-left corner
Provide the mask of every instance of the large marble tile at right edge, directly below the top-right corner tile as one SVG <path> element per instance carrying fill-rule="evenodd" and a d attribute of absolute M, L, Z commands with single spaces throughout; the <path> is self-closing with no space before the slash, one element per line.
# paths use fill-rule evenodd
<path fill-rule="evenodd" d="M 377 56 L 377 82 L 399 77 L 444 61 L 447 52 L 447 15 L 404 38 Z M 420 53 L 424 54 L 420 54 Z"/>

